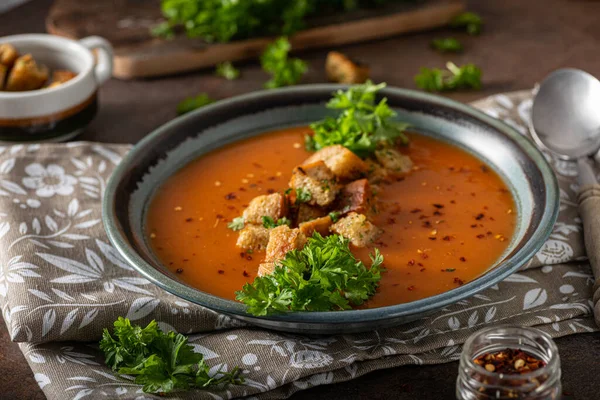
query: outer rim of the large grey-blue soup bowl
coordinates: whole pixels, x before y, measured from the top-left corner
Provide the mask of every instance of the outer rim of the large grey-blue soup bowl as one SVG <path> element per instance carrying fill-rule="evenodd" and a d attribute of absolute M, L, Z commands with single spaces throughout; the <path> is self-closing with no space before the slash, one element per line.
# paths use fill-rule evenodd
<path fill-rule="evenodd" d="M 540 217 L 539 227 L 532 233 L 532 236 L 516 252 L 508 259 L 503 260 L 497 268 L 488 271 L 478 278 L 465 283 L 462 286 L 439 293 L 434 296 L 429 296 L 423 299 L 400 303 L 391 306 L 354 309 L 347 311 L 324 311 L 324 312 L 290 312 L 283 314 L 273 314 L 268 316 L 254 316 L 247 313 L 246 306 L 235 300 L 229 300 L 222 297 L 203 292 L 193 288 L 187 284 L 181 283 L 164 273 L 160 272 L 152 265 L 147 263 L 138 253 L 129 245 L 129 241 L 124 236 L 119 221 L 113 213 L 115 207 L 115 195 L 118 185 L 123 178 L 128 166 L 135 163 L 138 154 L 146 152 L 148 146 L 151 147 L 154 140 L 163 135 L 168 135 L 169 131 L 177 129 L 188 119 L 203 113 L 212 112 L 214 110 L 226 109 L 235 106 L 248 104 L 253 100 L 264 96 L 278 95 L 285 93 L 287 95 L 310 93 L 313 91 L 329 91 L 331 93 L 339 89 L 347 88 L 347 85 L 337 84 L 311 84 L 299 85 L 295 87 L 281 88 L 275 90 L 263 90 L 252 92 L 241 96 L 231 97 L 201 109 L 195 110 L 186 115 L 175 118 L 161 127 L 154 130 L 152 133 L 144 137 L 136 144 L 129 153 L 123 158 L 121 163 L 115 168 L 111 175 L 102 201 L 102 220 L 110 242 L 115 246 L 125 260 L 134 267 L 144 278 L 156 284 L 160 288 L 186 299 L 195 304 L 200 304 L 212 310 L 234 314 L 250 319 L 261 319 L 265 321 L 288 322 L 288 323 L 309 323 L 309 324 L 348 324 L 356 322 L 378 321 L 389 318 L 407 317 L 410 315 L 423 314 L 426 312 L 440 309 L 444 306 L 456 303 L 479 293 L 497 283 L 504 280 L 509 275 L 517 272 L 517 270 L 528 262 L 535 253 L 541 248 L 544 242 L 552 233 L 554 224 L 559 213 L 559 191 L 556 175 L 552 171 L 546 158 L 542 152 L 535 147 L 533 142 L 529 141 L 525 136 L 518 133 L 514 128 L 504 122 L 492 118 L 482 111 L 479 111 L 467 104 L 463 104 L 441 96 L 423 93 L 410 89 L 400 89 L 394 87 L 386 87 L 380 94 L 385 97 L 387 94 L 413 99 L 416 101 L 426 102 L 432 106 L 440 106 L 450 108 L 457 111 L 466 117 L 471 117 L 483 124 L 490 126 L 513 140 L 523 153 L 536 165 L 542 176 L 544 188 L 546 191 L 546 203 L 543 205 L 542 215 Z M 129 205 L 127 205 L 129 207 Z"/>

